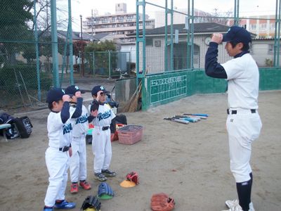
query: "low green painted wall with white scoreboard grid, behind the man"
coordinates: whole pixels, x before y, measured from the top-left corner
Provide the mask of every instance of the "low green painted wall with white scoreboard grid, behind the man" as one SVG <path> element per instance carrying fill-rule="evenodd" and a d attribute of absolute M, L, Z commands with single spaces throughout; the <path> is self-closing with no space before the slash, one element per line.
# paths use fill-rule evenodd
<path fill-rule="evenodd" d="M 281 69 L 261 68 L 260 90 L 281 89 Z M 207 77 L 204 70 L 183 70 L 149 75 L 143 79 L 143 110 L 193 94 L 223 93 L 225 79 Z"/>

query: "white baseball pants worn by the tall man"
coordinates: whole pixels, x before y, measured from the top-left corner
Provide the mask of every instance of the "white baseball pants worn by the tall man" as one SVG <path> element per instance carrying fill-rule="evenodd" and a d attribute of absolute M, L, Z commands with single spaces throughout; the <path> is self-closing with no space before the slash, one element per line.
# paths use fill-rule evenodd
<path fill-rule="evenodd" d="M 250 110 L 237 110 L 237 114 L 228 115 L 226 121 L 230 151 L 230 170 L 235 181 L 249 181 L 251 177 L 251 142 L 259 138 L 261 118 Z"/>

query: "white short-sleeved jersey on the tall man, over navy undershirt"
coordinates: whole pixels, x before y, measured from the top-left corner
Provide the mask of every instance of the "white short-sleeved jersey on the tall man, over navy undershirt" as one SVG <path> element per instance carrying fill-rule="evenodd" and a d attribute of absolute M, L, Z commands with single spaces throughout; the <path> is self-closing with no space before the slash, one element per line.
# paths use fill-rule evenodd
<path fill-rule="evenodd" d="M 259 68 L 251 55 L 221 65 L 228 76 L 228 108 L 258 109 Z"/>

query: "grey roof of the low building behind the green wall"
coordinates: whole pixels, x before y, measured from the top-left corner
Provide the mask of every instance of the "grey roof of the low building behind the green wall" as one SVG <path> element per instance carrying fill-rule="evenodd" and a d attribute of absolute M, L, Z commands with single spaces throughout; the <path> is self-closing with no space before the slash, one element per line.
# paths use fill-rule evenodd
<path fill-rule="evenodd" d="M 185 29 L 185 24 L 175 24 L 173 25 L 174 30 L 178 30 L 179 34 L 186 34 L 188 30 Z M 214 33 L 214 32 L 227 32 L 229 29 L 226 25 L 221 25 L 218 23 L 195 23 L 194 24 L 194 33 Z M 171 28 L 170 25 L 168 25 L 168 33 L 170 33 Z M 140 32 L 140 34 L 143 34 L 143 32 Z M 165 27 L 158 27 L 152 30 L 146 30 L 145 34 L 152 35 L 152 34 L 165 34 Z M 136 35 L 130 34 L 130 35 Z"/>

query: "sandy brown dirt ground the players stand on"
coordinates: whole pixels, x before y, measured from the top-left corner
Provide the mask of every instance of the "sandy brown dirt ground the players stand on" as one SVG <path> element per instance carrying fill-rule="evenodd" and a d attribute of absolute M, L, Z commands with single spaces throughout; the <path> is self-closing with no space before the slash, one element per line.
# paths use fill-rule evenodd
<path fill-rule="evenodd" d="M 256 211 L 281 210 L 281 91 L 263 91 L 259 113 L 263 129 L 252 145 L 254 174 L 252 201 Z M 129 124 L 145 127 L 143 139 L 132 145 L 112 143 L 111 169 L 117 177 L 107 180 L 116 196 L 102 201 L 102 210 L 150 210 L 153 193 L 164 192 L 176 201 L 175 210 L 224 210 L 224 201 L 237 198 L 235 181 L 229 170 L 226 133 L 226 94 L 195 95 L 151 108 L 126 113 Z M 208 113 L 207 120 L 178 124 L 163 117 L 182 113 Z M 0 143 L 0 210 L 41 210 L 48 186 L 44 154 L 48 146 L 48 110 L 21 113 L 34 125 L 29 139 Z M 93 153 L 87 146 L 88 181 L 91 191 L 79 189 L 66 199 L 77 203 L 96 195 L 99 182 L 93 178 Z M 136 171 L 141 183 L 122 188 L 126 173 Z"/>

